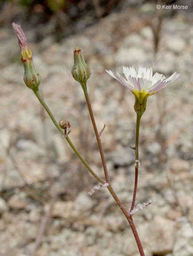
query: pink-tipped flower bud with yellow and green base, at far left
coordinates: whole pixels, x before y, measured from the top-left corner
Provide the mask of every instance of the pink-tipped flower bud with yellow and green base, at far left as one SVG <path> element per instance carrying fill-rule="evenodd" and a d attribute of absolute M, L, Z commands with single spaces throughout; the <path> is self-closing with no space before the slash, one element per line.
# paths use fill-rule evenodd
<path fill-rule="evenodd" d="M 38 90 L 39 84 L 41 82 L 41 77 L 39 73 L 36 72 L 33 64 L 32 50 L 28 45 L 22 28 L 15 23 L 12 23 L 12 26 L 16 32 L 16 36 L 20 45 L 21 61 L 24 66 L 24 82 L 28 86 L 28 88 L 32 90 Z"/>

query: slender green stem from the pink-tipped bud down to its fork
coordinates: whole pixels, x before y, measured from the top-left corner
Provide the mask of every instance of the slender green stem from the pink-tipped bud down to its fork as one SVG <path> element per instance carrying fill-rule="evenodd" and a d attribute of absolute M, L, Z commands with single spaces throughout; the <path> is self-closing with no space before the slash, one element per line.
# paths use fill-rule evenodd
<path fill-rule="evenodd" d="M 53 114 L 51 113 L 50 109 L 48 108 L 47 104 L 45 103 L 45 101 L 43 100 L 42 96 L 39 93 L 39 90 L 34 90 L 33 91 L 35 93 L 35 96 L 38 98 L 39 102 L 42 104 L 43 108 L 46 110 L 46 112 L 48 113 L 48 115 L 50 116 L 52 122 L 55 124 L 55 127 L 59 130 L 59 132 L 64 136 L 64 138 L 67 140 L 67 143 L 71 146 L 72 150 L 75 152 L 75 154 L 79 157 L 79 159 L 81 160 L 81 162 L 86 166 L 86 168 L 88 169 L 89 172 L 91 172 L 91 174 L 95 177 L 96 180 L 98 180 L 100 183 L 104 184 L 105 181 L 102 180 L 100 177 L 98 177 L 98 175 L 93 172 L 93 170 L 90 168 L 90 166 L 87 164 L 87 162 L 83 159 L 83 157 L 79 154 L 78 150 L 75 148 L 74 144 L 72 143 L 72 141 L 70 140 L 70 138 L 64 134 L 64 130 L 62 128 L 60 128 L 59 124 L 57 123 L 57 121 L 55 120 L 55 117 L 53 116 Z"/>

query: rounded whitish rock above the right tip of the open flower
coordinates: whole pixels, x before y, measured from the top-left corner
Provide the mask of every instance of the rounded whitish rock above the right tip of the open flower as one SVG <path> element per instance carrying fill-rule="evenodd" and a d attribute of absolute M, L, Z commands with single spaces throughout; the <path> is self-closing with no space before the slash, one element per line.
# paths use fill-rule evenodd
<path fill-rule="evenodd" d="M 167 36 L 165 39 L 166 47 L 173 52 L 180 53 L 185 49 L 185 40 L 178 36 Z"/>

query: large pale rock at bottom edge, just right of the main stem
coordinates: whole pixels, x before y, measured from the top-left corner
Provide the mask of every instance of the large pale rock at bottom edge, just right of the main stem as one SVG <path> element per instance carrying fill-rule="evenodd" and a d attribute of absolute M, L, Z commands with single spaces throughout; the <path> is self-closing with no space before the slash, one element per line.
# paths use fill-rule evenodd
<path fill-rule="evenodd" d="M 150 223 L 139 226 L 138 232 L 142 244 L 155 255 L 165 255 L 172 252 L 175 241 L 175 223 L 157 216 Z"/>

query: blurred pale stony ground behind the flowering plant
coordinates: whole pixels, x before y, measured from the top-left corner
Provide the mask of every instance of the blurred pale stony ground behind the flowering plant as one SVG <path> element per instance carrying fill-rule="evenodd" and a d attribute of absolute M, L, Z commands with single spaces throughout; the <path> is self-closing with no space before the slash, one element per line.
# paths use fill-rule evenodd
<path fill-rule="evenodd" d="M 136 204 L 153 204 L 134 222 L 146 256 L 193 256 L 193 1 L 0 1 L 0 256 L 138 256 L 107 189 L 88 196 L 98 183 L 25 86 L 12 22 L 32 48 L 45 102 L 56 120 L 71 122 L 71 140 L 103 178 L 83 91 L 71 76 L 73 48 L 82 49 L 98 130 L 106 124 L 112 185 L 128 209 L 134 96 L 105 69 L 181 74 L 148 99 L 142 116 Z"/>

